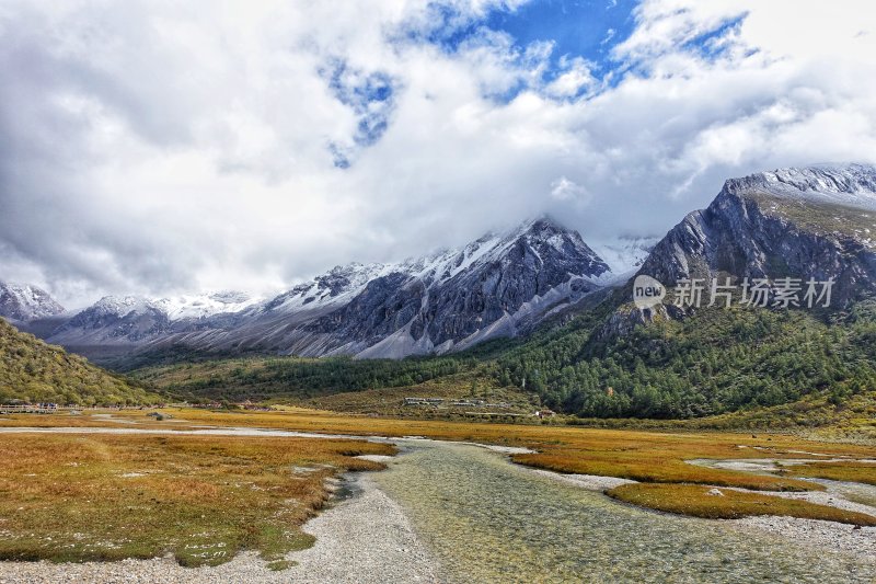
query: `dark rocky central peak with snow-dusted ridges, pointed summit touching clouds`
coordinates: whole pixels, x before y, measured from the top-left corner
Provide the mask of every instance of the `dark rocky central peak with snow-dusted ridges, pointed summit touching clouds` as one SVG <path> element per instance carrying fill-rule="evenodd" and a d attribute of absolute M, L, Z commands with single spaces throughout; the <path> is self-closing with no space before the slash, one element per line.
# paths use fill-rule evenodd
<path fill-rule="evenodd" d="M 608 272 L 577 233 L 548 219 L 407 267 L 369 282 L 308 330 L 339 333 L 368 347 L 404 331 L 414 352 L 445 352 L 514 335 L 523 317 L 592 291 Z"/>

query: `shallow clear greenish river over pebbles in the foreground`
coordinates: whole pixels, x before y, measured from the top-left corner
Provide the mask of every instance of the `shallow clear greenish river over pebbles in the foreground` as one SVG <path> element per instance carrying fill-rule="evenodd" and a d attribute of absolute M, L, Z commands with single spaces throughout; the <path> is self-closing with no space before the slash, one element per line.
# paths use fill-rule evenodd
<path fill-rule="evenodd" d="M 373 480 L 454 582 L 874 582 L 876 565 L 646 512 L 464 445 L 417 444 Z"/>

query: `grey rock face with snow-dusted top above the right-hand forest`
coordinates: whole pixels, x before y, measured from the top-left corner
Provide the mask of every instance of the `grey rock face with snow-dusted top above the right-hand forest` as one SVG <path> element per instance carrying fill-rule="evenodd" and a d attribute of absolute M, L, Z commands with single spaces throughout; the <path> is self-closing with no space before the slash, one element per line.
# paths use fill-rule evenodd
<path fill-rule="evenodd" d="M 762 172 L 724 184 L 688 215 L 639 274 L 682 278 L 833 278 L 842 306 L 876 291 L 876 168 Z"/>

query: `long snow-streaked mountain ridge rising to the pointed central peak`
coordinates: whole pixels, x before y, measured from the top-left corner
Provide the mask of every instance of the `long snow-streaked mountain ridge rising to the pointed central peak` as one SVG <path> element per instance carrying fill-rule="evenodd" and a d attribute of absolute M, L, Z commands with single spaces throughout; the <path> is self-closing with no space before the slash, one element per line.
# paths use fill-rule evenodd
<path fill-rule="evenodd" d="M 540 218 L 458 250 L 337 266 L 261 302 L 104 298 L 49 341 L 87 354 L 83 347 L 128 344 L 397 358 L 514 336 L 610 280 L 577 232 Z"/>

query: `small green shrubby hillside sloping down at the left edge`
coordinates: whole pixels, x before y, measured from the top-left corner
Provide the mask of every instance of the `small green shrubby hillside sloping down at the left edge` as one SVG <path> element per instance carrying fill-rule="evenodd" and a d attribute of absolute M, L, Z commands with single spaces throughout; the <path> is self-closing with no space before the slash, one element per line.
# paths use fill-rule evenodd
<path fill-rule="evenodd" d="M 0 319 L 0 403 L 14 400 L 110 405 L 155 403 L 161 398 Z"/>

